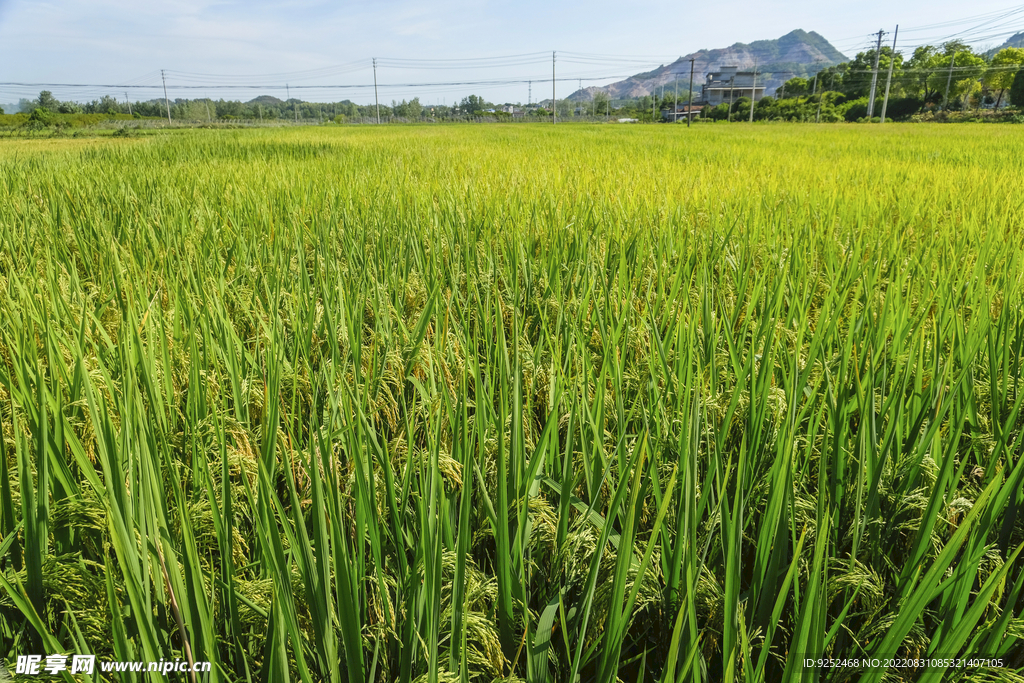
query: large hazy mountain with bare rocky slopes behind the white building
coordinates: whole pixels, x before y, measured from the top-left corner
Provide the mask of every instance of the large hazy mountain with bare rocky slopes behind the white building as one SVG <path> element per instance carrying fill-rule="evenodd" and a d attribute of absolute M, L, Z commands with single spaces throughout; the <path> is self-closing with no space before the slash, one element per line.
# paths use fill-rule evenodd
<path fill-rule="evenodd" d="M 775 40 L 756 40 L 753 43 L 735 43 L 729 47 L 697 50 L 679 57 L 671 65 L 662 65 L 645 74 L 631 76 L 603 87 L 578 90 L 568 99 L 589 100 L 596 92 L 606 92 L 612 99 L 628 99 L 651 94 L 654 88 L 674 86 L 678 79 L 680 89 L 689 84 L 690 59 L 693 59 L 693 89 L 699 89 L 705 76 L 721 67 L 739 67 L 743 70 L 758 68 L 758 83 L 767 86 L 771 94 L 794 76 L 813 76 L 825 67 L 847 61 L 848 57 L 833 47 L 820 35 L 800 29 L 791 31 Z M 668 87 L 666 88 L 668 91 Z"/>

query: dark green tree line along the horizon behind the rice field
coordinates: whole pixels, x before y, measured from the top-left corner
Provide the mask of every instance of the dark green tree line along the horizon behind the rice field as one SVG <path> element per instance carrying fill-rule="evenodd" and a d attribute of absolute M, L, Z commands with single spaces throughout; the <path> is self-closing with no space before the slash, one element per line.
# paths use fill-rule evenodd
<path fill-rule="evenodd" d="M 872 76 L 876 106 L 868 112 Z M 887 116 L 907 119 L 929 110 L 963 111 L 969 109 L 1024 108 L 1024 48 L 1007 47 L 986 54 L 967 43 L 952 40 L 940 46 L 926 45 L 904 57 L 891 47 L 859 52 L 850 61 L 827 67 L 813 77 L 794 77 L 785 81 L 773 96 L 765 96 L 754 105 L 755 120 L 857 121 L 881 113 L 886 83 L 890 97 Z M 689 93 L 665 92 L 660 97 L 645 95 L 612 101 L 602 91 L 588 100 L 557 99 L 555 109 L 561 119 L 572 117 L 615 117 L 639 121 L 657 121 L 662 113 L 685 102 Z M 695 93 L 699 98 L 699 93 Z M 58 100 L 43 90 L 34 99 L 22 99 L 22 113 L 30 114 L 36 124 L 55 119 L 49 115 L 130 115 L 134 118 L 165 118 L 202 121 L 275 121 L 315 120 L 344 123 L 377 120 L 457 120 L 467 117 L 552 116 L 551 100 L 530 103 L 495 104 L 479 95 L 469 95 L 452 104 L 427 104 L 419 97 L 390 104 L 357 104 L 349 99 L 335 102 L 307 102 L 299 98 L 279 99 L 263 95 L 248 102 L 211 98 L 176 98 L 165 101 L 119 100 L 110 95 L 89 102 Z M 169 112 L 168 112 L 169 111 Z M 739 97 L 715 108 L 705 108 L 701 118 L 711 120 L 746 120 L 751 100 Z M 0 110 L 0 114 L 3 111 Z"/>

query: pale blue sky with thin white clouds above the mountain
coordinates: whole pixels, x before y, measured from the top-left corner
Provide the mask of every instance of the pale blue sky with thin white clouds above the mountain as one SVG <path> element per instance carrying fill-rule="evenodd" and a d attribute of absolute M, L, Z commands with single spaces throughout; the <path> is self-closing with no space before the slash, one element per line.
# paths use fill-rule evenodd
<path fill-rule="evenodd" d="M 551 96 L 552 50 L 557 77 L 565 79 L 556 85 L 561 97 L 581 84 L 610 83 L 698 49 L 778 38 L 794 29 L 817 32 L 853 56 L 870 45 L 870 34 L 897 24 L 904 51 L 956 36 L 991 47 L 1024 31 L 1024 5 L 0 0 L 0 103 L 42 89 L 78 101 L 103 94 L 123 99 L 126 91 L 132 100 L 153 99 L 163 95 L 161 70 L 172 99 L 291 94 L 371 103 L 374 57 L 382 103 L 418 96 L 451 104 L 468 94 L 526 102 Z"/>

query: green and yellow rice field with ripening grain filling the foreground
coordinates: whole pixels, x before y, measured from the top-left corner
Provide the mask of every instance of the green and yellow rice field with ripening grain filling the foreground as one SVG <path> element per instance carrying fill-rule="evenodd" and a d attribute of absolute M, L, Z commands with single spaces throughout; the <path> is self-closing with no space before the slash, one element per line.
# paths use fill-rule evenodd
<path fill-rule="evenodd" d="M 0 656 L 1024 680 L 1022 239 L 1010 126 L 0 143 Z"/>

